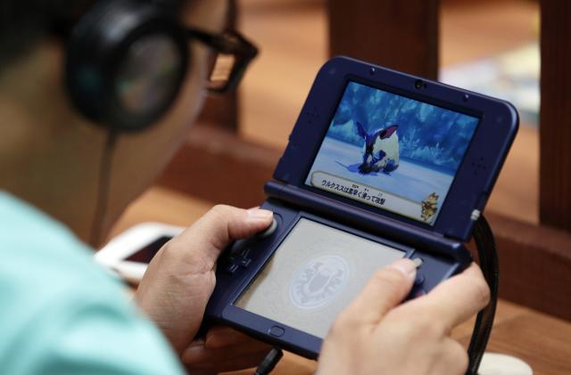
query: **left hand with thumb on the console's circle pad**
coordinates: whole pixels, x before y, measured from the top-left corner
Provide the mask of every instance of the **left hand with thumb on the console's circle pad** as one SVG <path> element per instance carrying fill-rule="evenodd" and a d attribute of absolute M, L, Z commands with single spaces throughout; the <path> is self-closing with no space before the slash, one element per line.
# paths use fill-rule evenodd
<path fill-rule="evenodd" d="M 216 260 L 232 240 L 271 224 L 264 209 L 216 206 L 153 257 L 135 298 L 180 354 L 190 345 L 214 289 Z"/>

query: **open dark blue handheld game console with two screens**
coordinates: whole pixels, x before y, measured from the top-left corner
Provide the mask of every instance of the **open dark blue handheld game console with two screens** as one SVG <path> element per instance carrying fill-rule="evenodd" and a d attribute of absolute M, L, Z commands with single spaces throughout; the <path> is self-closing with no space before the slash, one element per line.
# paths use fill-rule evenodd
<path fill-rule="evenodd" d="M 363 61 L 327 61 L 261 207 L 219 259 L 206 322 L 316 358 L 375 271 L 408 257 L 409 298 L 465 269 L 463 245 L 517 133 L 508 102 Z"/>

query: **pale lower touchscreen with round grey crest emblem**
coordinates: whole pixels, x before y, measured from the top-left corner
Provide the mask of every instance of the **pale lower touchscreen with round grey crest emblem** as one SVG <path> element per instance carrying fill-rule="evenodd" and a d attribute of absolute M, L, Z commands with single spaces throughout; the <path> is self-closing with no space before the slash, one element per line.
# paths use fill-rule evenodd
<path fill-rule="evenodd" d="M 405 255 L 301 218 L 235 306 L 325 338 L 373 273 Z"/>

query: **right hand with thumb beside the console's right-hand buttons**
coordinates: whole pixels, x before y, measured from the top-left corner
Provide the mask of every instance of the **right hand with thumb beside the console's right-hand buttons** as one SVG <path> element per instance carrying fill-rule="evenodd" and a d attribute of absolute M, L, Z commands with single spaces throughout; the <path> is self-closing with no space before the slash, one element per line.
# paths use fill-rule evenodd
<path fill-rule="evenodd" d="M 377 272 L 339 315 L 323 343 L 319 374 L 463 374 L 468 355 L 452 328 L 487 305 L 477 265 L 402 305 L 416 274 L 408 259 Z"/>

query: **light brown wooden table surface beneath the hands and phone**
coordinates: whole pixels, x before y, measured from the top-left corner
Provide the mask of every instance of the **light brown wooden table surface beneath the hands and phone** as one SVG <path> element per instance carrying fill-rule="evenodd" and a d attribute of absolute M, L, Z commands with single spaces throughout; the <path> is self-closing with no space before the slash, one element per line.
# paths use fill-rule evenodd
<path fill-rule="evenodd" d="M 210 207 L 208 202 L 153 188 L 128 208 L 112 234 L 145 221 L 192 224 Z M 452 336 L 468 345 L 472 324 L 462 324 L 452 332 Z M 515 355 L 529 363 L 536 375 L 571 374 L 571 323 L 500 300 L 488 351 Z M 310 374 L 315 368 L 315 362 L 286 353 L 273 373 Z M 251 373 L 235 372 L 244 375 Z"/>

